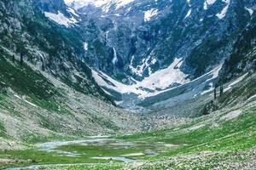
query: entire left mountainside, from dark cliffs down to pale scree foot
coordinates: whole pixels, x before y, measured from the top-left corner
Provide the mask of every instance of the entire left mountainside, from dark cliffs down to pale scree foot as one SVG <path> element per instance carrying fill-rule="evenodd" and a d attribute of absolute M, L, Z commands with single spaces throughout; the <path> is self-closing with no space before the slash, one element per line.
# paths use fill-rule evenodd
<path fill-rule="evenodd" d="M 143 128 L 139 116 L 115 107 L 95 82 L 81 59 L 78 32 L 49 20 L 43 7 L 49 12 L 64 7 L 75 17 L 62 1 L 0 3 L 1 150 L 57 136 Z"/>

